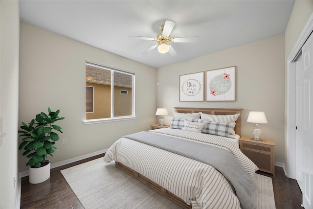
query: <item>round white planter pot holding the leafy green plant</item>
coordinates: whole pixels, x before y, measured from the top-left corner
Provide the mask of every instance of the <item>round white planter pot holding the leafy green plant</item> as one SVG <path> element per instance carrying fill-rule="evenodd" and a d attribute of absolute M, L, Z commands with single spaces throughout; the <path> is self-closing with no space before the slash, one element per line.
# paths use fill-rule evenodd
<path fill-rule="evenodd" d="M 45 160 L 45 162 L 49 162 L 43 167 L 32 168 L 29 167 L 29 183 L 30 184 L 39 184 L 45 182 L 50 178 L 50 161 Z"/>

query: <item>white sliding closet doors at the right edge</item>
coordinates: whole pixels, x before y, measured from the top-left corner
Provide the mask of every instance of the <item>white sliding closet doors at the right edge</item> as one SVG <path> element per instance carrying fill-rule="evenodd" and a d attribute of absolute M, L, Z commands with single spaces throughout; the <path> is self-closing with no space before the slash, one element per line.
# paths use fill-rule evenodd
<path fill-rule="evenodd" d="M 299 186 L 301 186 L 303 206 L 313 208 L 313 36 L 311 35 L 302 47 L 303 70 L 297 79 L 301 88 L 297 100 L 297 134 L 296 144 L 300 145 L 301 161 Z M 298 76 L 297 76 L 298 77 Z M 298 83 L 301 83 L 298 85 Z M 302 96 L 303 95 L 303 96 Z M 298 138 L 299 137 L 299 138 Z M 298 153 L 297 155 L 298 156 Z M 298 160 L 297 160 L 298 161 Z M 298 173 L 298 171 L 297 171 Z M 298 174 L 297 174 L 298 177 Z M 297 179 L 298 180 L 298 179 Z"/>

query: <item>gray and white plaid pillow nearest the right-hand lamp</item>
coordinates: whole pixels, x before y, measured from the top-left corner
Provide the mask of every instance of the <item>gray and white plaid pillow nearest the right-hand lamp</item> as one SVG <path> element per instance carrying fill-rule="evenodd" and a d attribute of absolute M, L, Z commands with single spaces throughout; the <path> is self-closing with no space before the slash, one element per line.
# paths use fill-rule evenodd
<path fill-rule="evenodd" d="M 236 123 L 212 122 L 212 121 L 206 121 L 206 120 L 201 120 L 201 119 L 199 120 L 199 122 L 206 123 L 206 125 L 204 125 L 202 129 L 202 133 L 233 138 L 233 136 L 231 135 L 234 131 L 234 127 Z"/>

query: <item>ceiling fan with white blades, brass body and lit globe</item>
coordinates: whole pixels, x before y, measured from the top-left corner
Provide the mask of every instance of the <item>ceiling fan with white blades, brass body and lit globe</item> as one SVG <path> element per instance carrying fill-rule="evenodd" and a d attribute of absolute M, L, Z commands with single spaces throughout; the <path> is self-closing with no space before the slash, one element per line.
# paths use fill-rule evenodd
<path fill-rule="evenodd" d="M 172 56 L 177 55 L 177 52 L 168 42 L 173 43 L 195 43 L 199 41 L 199 37 L 180 37 L 180 38 L 171 38 L 171 32 L 175 26 L 174 21 L 165 21 L 165 24 L 160 26 L 161 32 L 156 35 L 156 38 L 143 37 L 143 36 L 130 36 L 130 38 L 148 40 L 148 41 L 156 41 L 157 43 L 147 50 L 145 50 L 142 54 L 148 54 L 150 51 L 157 47 L 158 52 L 166 53 L 169 52 Z"/>

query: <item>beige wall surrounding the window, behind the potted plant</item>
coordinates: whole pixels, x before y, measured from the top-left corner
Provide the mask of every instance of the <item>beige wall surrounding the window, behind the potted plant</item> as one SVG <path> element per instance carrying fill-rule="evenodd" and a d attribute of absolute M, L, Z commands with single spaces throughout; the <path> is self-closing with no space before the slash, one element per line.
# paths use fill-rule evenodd
<path fill-rule="evenodd" d="M 155 68 L 27 23 L 21 22 L 20 30 L 19 123 L 28 122 L 48 107 L 60 109 L 60 116 L 65 117 L 58 123 L 64 134 L 49 158 L 52 163 L 109 148 L 121 136 L 148 130 L 148 125 L 155 123 Z M 135 73 L 136 119 L 83 124 L 86 60 Z M 62 143 L 63 138 L 67 144 Z M 20 153 L 20 172 L 27 169 L 26 160 Z"/>

